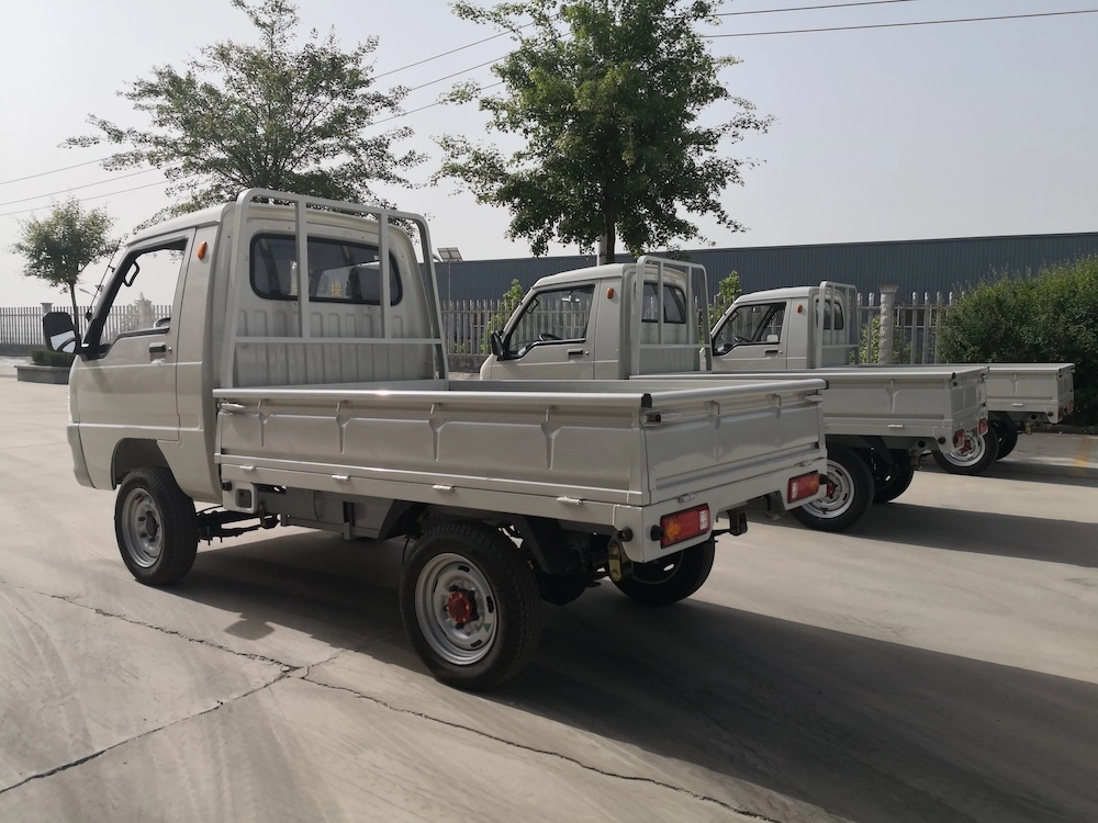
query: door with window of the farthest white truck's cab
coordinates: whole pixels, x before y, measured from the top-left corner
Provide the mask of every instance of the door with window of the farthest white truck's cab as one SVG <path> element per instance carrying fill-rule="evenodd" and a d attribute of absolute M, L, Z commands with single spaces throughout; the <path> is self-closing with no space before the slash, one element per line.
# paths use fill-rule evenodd
<path fill-rule="evenodd" d="M 786 308 L 786 301 L 737 306 L 714 330 L 714 371 L 785 370 L 789 334 Z"/>

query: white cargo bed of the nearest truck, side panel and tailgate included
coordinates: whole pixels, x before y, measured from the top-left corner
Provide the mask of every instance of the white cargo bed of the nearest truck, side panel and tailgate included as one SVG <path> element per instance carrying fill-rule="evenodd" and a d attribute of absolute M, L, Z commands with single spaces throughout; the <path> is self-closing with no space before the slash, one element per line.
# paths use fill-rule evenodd
<path fill-rule="evenodd" d="M 820 380 L 455 385 L 215 390 L 222 478 L 636 531 L 824 467 Z"/>

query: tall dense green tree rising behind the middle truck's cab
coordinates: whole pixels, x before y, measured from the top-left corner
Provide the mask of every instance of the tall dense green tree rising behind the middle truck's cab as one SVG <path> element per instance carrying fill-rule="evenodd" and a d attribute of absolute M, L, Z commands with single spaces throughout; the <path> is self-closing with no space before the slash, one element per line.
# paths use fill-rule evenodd
<path fill-rule="evenodd" d="M 455 3 L 458 16 L 509 31 L 518 46 L 492 68 L 503 92 L 467 86 L 450 100 L 479 100 L 490 129 L 526 145 L 505 155 L 446 135 L 435 181 L 455 179 L 478 202 L 508 208 L 509 236 L 529 239 L 536 255 L 554 238 L 590 247 L 605 236 L 604 261 L 614 259 L 617 237 L 634 255 L 701 238 L 683 213 L 739 230 L 719 201 L 726 187 L 742 183 L 746 162 L 728 145 L 765 132 L 771 119 L 721 84 L 718 72 L 738 60 L 709 54 L 695 31 L 719 23 L 720 2 Z M 701 125 L 714 103 L 735 115 Z"/>

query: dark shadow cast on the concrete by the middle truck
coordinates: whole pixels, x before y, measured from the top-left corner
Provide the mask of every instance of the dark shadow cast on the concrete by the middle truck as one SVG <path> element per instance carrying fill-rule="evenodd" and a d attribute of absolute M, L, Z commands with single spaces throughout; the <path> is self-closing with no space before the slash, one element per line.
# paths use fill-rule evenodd
<path fill-rule="evenodd" d="M 805 528 L 789 516 L 774 523 Z M 1098 568 L 1098 523 L 916 506 L 900 498 L 873 506 L 845 535 Z"/>

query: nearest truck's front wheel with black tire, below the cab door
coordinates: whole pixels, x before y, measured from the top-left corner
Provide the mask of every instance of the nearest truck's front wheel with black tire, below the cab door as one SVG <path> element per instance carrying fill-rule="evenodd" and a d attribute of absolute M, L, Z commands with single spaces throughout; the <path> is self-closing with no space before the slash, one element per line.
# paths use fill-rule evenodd
<path fill-rule="evenodd" d="M 191 571 L 198 551 L 194 501 L 167 469 L 137 469 L 119 486 L 114 535 L 126 568 L 138 582 L 176 583 Z"/>

